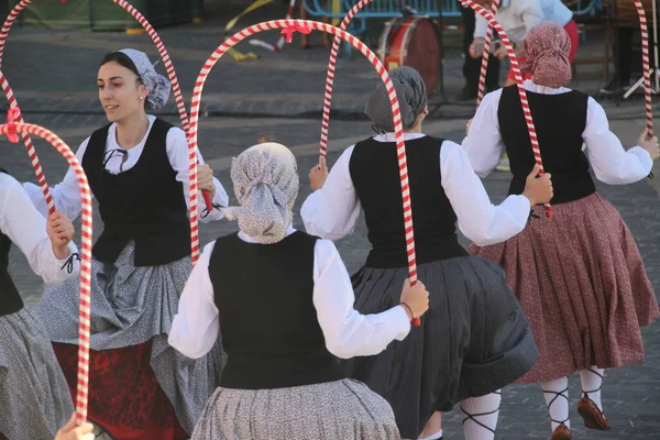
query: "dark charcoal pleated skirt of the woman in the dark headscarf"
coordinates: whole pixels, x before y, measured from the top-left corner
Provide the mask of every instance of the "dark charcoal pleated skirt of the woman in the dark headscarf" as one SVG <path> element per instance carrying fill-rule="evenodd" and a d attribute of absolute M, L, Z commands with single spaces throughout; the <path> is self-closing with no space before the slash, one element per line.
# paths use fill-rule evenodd
<path fill-rule="evenodd" d="M 520 305 L 496 264 L 461 256 L 417 266 L 430 293 L 421 326 L 375 356 L 346 361 L 350 377 L 392 405 L 404 438 L 417 438 L 436 410 L 497 391 L 522 376 L 538 351 Z M 355 309 L 377 314 L 400 301 L 408 270 L 363 267 Z"/>

